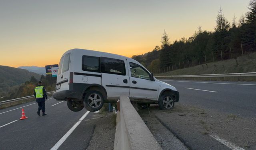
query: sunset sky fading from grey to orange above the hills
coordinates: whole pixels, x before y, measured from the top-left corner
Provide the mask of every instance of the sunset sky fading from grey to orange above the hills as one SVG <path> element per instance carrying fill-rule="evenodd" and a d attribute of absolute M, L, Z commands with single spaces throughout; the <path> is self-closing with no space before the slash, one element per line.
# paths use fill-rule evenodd
<path fill-rule="evenodd" d="M 0 65 L 58 64 L 82 48 L 131 57 L 189 38 L 199 25 L 212 31 L 220 9 L 232 22 L 249 0 L 1 0 Z"/>

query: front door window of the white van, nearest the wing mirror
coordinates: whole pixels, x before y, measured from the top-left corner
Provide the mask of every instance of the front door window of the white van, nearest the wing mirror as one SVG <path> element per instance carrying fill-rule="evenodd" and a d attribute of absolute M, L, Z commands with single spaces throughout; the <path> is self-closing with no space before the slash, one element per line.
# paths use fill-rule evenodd
<path fill-rule="evenodd" d="M 130 62 L 132 77 L 150 80 L 150 74 L 142 66 Z"/>

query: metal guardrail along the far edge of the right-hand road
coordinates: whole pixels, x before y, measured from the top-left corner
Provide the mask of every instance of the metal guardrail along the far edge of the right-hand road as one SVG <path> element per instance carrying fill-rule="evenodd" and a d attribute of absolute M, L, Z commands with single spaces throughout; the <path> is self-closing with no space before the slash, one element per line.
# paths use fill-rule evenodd
<path fill-rule="evenodd" d="M 256 72 L 232 73 L 232 74 L 198 74 L 182 76 L 155 76 L 156 78 L 194 78 L 194 77 L 235 77 L 235 76 L 256 76 Z"/>

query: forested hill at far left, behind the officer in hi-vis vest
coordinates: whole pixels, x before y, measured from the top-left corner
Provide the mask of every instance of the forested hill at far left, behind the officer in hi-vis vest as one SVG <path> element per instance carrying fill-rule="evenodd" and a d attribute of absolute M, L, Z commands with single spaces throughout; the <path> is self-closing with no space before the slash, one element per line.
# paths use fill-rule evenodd
<path fill-rule="evenodd" d="M 40 74 L 9 66 L 0 66 L 0 74 L 0 96 L 4 96 L 11 87 L 29 81 L 31 76 L 34 76 L 37 80 L 41 77 Z"/>

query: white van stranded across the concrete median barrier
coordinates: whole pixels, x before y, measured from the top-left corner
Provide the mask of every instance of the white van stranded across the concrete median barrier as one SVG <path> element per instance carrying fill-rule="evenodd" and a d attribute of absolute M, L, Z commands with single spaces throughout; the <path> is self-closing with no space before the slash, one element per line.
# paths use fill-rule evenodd
<path fill-rule="evenodd" d="M 66 100 L 74 112 L 84 107 L 94 112 L 120 95 L 142 106 L 158 104 L 160 109 L 172 109 L 179 101 L 176 88 L 154 78 L 132 58 L 83 49 L 63 54 L 53 98 Z"/>

